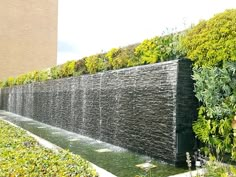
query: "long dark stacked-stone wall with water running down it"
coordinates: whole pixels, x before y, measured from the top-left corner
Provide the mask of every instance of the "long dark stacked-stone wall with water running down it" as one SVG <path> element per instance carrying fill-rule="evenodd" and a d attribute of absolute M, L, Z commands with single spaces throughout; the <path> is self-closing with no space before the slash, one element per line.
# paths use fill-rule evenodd
<path fill-rule="evenodd" d="M 0 109 L 172 164 L 194 145 L 191 62 L 173 60 L 0 91 Z"/>

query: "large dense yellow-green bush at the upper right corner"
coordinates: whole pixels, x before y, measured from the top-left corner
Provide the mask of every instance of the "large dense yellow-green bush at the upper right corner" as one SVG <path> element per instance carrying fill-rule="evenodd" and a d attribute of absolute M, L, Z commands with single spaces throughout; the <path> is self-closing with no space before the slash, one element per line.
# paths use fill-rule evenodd
<path fill-rule="evenodd" d="M 236 10 L 226 10 L 201 21 L 182 38 L 182 48 L 197 66 L 236 61 Z"/>

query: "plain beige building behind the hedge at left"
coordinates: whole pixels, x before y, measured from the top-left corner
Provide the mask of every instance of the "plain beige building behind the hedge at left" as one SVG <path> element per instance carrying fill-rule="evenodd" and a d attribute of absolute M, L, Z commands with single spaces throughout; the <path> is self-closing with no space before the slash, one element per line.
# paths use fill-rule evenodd
<path fill-rule="evenodd" d="M 57 0 L 0 1 L 0 80 L 56 65 Z"/>

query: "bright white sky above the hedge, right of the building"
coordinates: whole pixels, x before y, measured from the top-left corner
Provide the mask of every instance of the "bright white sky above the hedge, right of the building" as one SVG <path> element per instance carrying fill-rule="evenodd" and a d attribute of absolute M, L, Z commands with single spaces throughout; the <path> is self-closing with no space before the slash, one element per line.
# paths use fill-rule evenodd
<path fill-rule="evenodd" d="M 57 63 L 183 30 L 236 0 L 59 0 Z"/>

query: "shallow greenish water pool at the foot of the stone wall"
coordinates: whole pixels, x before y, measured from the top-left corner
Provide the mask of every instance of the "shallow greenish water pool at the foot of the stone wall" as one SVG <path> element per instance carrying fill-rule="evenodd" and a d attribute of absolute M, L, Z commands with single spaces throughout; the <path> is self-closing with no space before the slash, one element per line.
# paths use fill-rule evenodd
<path fill-rule="evenodd" d="M 135 175 L 145 174 L 136 165 L 147 161 L 151 161 L 151 163 L 157 166 L 152 170 L 152 174 L 155 177 L 167 177 L 186 171 L 182 168 L 175 168 L 172 165 L 158 162 L 148 156 L 133 153 L 108 143 L 9 112 L 0 111 L 0 118 L 10 121 L 64 149 L 69 149 L 118 177 L 134 177 Z"/>

